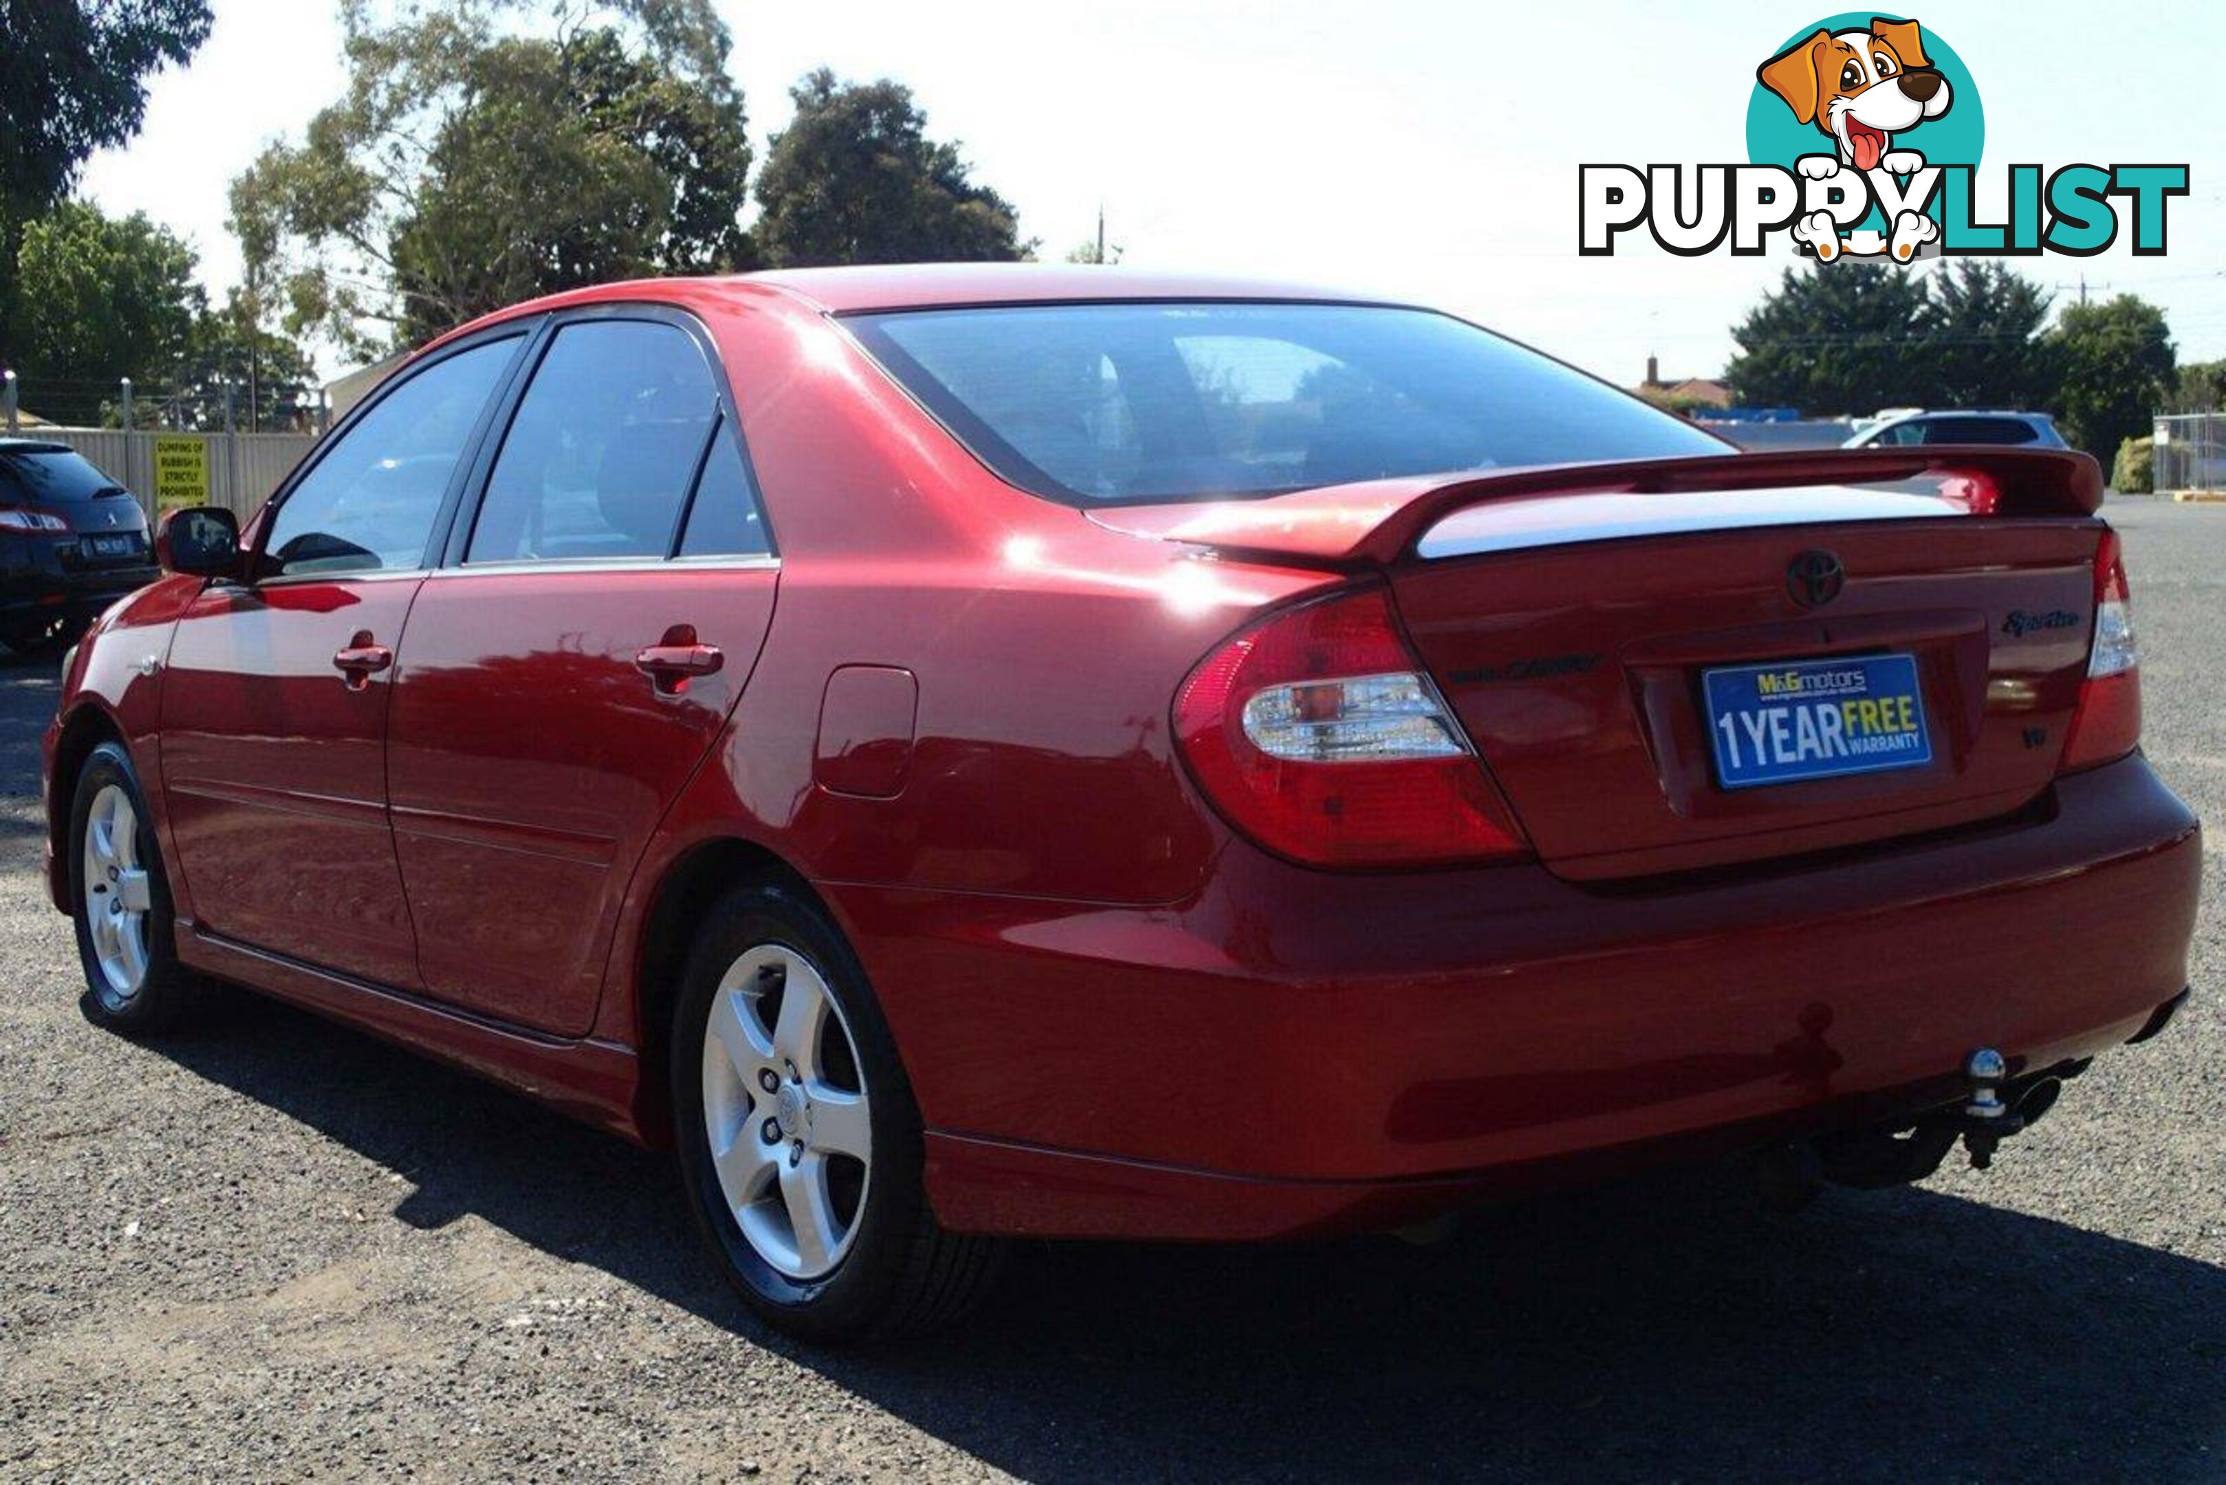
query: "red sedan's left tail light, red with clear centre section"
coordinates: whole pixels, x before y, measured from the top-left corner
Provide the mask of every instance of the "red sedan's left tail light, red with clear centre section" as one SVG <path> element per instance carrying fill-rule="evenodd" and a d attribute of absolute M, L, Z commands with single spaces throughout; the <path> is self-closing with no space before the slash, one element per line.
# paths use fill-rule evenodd
<path fill-rule="evenodd" d="M 1382 590 L 1291 608 L 1206 655 L 1175 739 L 1238 830 L 1307 866 L 1436 866 L 1527 842 Z"/>

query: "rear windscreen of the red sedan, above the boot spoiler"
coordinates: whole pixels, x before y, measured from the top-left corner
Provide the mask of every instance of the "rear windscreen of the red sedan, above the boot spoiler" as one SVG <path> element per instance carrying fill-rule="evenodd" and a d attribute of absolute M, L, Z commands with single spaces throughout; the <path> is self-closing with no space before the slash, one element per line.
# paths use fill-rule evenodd
<path fill-rule="evenodd" d="M 1429 309 L 1084 303 L 844 323 L 997 474 L 1073 505 L 1730 452 Z"/>

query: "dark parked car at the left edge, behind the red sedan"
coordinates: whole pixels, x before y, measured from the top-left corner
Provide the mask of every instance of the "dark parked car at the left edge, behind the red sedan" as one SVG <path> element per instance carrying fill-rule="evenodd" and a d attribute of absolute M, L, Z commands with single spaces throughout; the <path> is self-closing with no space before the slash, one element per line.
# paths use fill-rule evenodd
<path fill-rule="evenodd" d="M 154 579 L 129 490 L 67 443 L 0 439 L 0 641 L 38 650 Z"/>

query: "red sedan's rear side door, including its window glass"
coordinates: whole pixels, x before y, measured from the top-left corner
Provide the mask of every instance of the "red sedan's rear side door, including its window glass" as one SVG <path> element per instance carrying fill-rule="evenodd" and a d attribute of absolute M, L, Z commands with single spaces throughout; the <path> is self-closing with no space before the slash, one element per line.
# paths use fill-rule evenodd
<path fill-rule="evenodd" d="M 427 993 L 594 1020 L 628 877 L 757 661 L 777 561 L 692 321 L 559 321 L 403 632 L 387 781 Z"/>

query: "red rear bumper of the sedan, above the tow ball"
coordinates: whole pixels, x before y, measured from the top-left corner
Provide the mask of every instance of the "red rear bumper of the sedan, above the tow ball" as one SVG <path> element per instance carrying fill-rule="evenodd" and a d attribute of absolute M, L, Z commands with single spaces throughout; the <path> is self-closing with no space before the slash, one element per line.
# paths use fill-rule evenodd
<path fill-rule="evenodd" d="M 1972 1046 L 2117 1046 L 2186 986 L 2199 866 L 2130 757 L 1988 828 L 1705 879 L 1231 848 L 1184 908 L 824 891 L 946 1222 L 1267 1238 L 1899 1118 Z"/>

